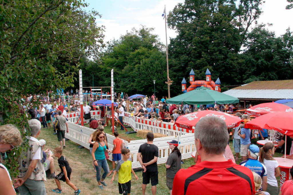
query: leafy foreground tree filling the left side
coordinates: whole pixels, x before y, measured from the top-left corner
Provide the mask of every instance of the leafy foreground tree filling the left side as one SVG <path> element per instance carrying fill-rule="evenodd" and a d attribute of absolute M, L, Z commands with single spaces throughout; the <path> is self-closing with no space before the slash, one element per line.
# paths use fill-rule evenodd
<path fill-rule="evenodd" d="M 81 0 L 0 4 L 0 125 L 14 124 L 27 135 L 22 95 L 72 86 L 80 56 L 96 56 L 100 51 L 104 27 L 96 26 L 95 17 L 100 15 L 85 12 L 86 6 Z M 14 149 L 16 154 L 11 152 L 6 164 L 13 177 L 22 149 Z"/>

